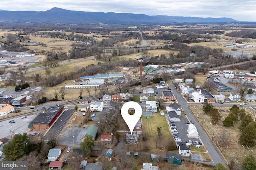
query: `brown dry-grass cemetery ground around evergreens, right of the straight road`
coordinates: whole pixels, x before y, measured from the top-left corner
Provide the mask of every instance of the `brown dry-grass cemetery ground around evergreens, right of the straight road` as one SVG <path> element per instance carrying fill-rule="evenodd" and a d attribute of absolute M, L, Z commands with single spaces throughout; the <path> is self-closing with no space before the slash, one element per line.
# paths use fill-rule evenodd
<path fill-rule="evenodd" d="M 210 135 L 210 138 L 212 138 L 213 136 L 213 142 L 221 148 L 222 154 L 225 156 L 226 160 L 229 163 L 231 155 L 234 155 L 238 162 L 242 162 L 244 160 L 244 155 L 253 154 L 255 157 L 256 153 L 253 152 L 253 150 L 255 150 L 256 147 L 251 147 L 250 149 L 247 149 L 239 143 L 239 136 L 241 132 L 238 129 L 238 126 L 240 122 L 235 123 L 233 128 L 222 127 L 222 121 L 228 116 L 230 107 L 216 108 L 218 108 L 221 113 L 221 121 L 218 123 L 218 125 L 211 125 L 210 117 L 203 113 L 202 106 L 191 107 L 194 115 L 198 119 L 198 123 L 200 123 L 201 127 L 203 127 L 207 131 L 207 133 Z M 243 109 L 245 109 L 246 113 L 249 113 L 252 115 L 252 117 L 254 117 L 255 113 L 252 109 L 250 109 L 249 107 L 243 107 Z M 224 131 L 230 134 L 230 139 L 226 140 L 228 145 L 223 146 L 222 141 L 225 139 L 222 139 L 220 135 Z"/>

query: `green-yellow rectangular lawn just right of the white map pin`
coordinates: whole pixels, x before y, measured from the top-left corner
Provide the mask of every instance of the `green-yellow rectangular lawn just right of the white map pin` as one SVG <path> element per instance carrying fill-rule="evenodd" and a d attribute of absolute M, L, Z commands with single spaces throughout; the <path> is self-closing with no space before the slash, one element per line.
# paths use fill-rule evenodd
<path fill-rule="evenodd" d="M 143 130 L 147 137 L 157 137 L 157 127 L 162 127 L 162 137 L 170 137 L 170 131 L 166 122 L 165 116 L 161 116 L 160 113 L 150 116 L 147 119 L 146 116 L 142 116 Z"/>

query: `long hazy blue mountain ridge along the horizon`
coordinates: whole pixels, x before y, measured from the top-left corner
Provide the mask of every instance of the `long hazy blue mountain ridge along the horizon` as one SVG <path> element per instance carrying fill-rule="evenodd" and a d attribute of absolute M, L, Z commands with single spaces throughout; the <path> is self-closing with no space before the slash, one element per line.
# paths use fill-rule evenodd
<path fill-rule="evenodd" d="M 82 12 L 52 8 L 47 11 L 6 11 L 0 10 L 0 22 L 4 23 L 105 23 L 105 24 L 168 24 L 177 22 L 216 23 L 238 22 L 232 18 L 199 18 L 179 16 L 148 16 L 114 12 Z"/>

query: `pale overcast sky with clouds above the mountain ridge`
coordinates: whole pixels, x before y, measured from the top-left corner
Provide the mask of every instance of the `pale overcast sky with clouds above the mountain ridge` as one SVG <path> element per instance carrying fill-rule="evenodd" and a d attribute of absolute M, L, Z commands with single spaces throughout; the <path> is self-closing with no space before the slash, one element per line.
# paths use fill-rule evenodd
<path fill-rule="evenodd" d="M 255 0 L 0 0 L 1 10 L 46 11 L 54 7 L 84 12 L 227 17 L 238 21 L 256 21 Z"/>

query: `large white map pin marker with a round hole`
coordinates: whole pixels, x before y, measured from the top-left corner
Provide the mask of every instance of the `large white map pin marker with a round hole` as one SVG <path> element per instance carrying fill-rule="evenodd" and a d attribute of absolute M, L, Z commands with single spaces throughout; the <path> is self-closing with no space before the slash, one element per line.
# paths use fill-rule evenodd
<path fill-rule="evenodd" d="M 130 115 L 128 113 L 128 110 L 130 108 L 133 108 L 135 110 L 135 113 L 133 115 Z M 121 115 L 125 121 L 125 123 L 128 125 L 131 135 L 133 132 L 134 127 L 138 123 L 141 115 L 142 115 L 142 108 L 137 102 L 127 102 L 122 106 L 121 109 Z"/>

